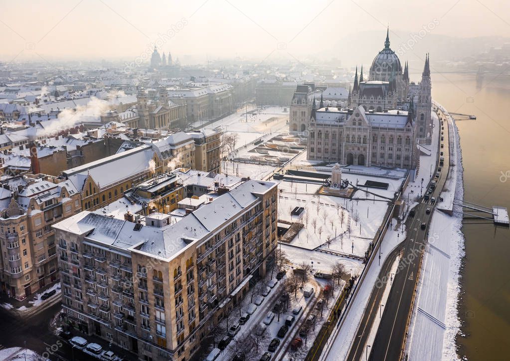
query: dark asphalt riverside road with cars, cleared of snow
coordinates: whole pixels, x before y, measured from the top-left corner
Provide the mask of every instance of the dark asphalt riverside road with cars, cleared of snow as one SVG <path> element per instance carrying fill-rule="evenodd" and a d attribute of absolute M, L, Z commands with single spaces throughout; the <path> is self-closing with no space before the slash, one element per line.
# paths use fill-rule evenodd
<path fill-rule="evenodd" d="M 439 124 L 439 126 L 441 127 L 441 124 Z M 444 122 L 444 139 L 444 142 L 439 142 L 440 144 L 444 144 L 444 147 L 440 148 L 440 151 L 444 151 L 444 167 L 440 173 L 439 179 L 437 179 L 436 189 L 431 195 L 431 197 L 436 198 L 444 187 L 449 171 L 447 122 Z M 426 181 L 424 181 L 424 183 L 425 182 Z M 347 356 L 348 360 L 366 359 L 367 349 L 370 353 L 370 359 L 392 361 L 400 359 L 401 350 L 407 333 L 407 321 L 409 320 L 412 310 L 412 302 L 418 282 L 423 250 L 425 249 L 428 223 L 435 209 L 435 205 L 436 204 L 430 204 L 428 201 L 422 200 L 414 208 L 415 216 L 407 218 L 405 222 L 407 229 L 406 238 L 388 255 L 379 273 L 379 279 L 391 279 L 391 275 L 388 273 L 390 272 L 398 252 L 402 252 L 399 267 L 397 273 L 394 275 L 391 291 L 384 306 L 384 313 L 382 314 L 375 341 L 373 345 L 367 345 L 367 340 L 375 317 L 380 317 L 379 305 L 384 292 L 384 288 L 380 287 L 380 285 L 379 288 L 374 286 L 372 290 L 363 314 L 362 322 L 356 331 L 356 336 L 349 350 Z M 431 212 L 429 214 L 426 212 L 427 208 L 430 208 Z M 421 228 L 422 222 L 427 224 L 426 229 Z"/>

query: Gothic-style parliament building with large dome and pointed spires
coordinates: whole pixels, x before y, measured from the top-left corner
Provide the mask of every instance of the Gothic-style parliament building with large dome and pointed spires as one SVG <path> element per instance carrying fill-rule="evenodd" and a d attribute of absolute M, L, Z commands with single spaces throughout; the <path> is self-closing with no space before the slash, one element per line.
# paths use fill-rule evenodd
<path fill-rule="evenodd" d="M 416 144 L 431 135 L 430 88 L 428 55 L 421 82 L 410 82 L 409 67 L 406 63 L 402 68 L 387 33 L 368 79 L 363 67 L 359 76 L 356 68 L 347 107 L 328 99 L 313 84 L 297 86 L 290 131 L 308 138 L 309 160 L 416 169 Z"/>

